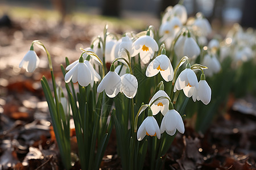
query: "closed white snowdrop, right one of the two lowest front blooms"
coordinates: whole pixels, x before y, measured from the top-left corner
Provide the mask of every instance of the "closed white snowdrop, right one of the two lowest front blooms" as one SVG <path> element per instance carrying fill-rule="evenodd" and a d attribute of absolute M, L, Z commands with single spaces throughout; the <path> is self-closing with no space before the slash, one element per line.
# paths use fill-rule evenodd
<path fill-rule="evenodd" d="M 183 134 L 185 131 L 184 123 L 180 113 L 175 111 L 175 109 L 171 109 L 168 110 L 166 115 L 163 117 L 160 132 L 164 133 L 164 131 L 166 131 L 167 134 L 174 135 L 176 130 Z"/>

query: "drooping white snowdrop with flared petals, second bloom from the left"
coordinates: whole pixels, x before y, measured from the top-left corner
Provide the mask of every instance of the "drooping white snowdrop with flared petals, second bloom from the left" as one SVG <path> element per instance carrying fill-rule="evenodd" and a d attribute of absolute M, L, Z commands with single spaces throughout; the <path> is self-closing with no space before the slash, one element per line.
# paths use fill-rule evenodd
<path fill-rule="evenodd" d="M 76 61 L 75 61 L 76 62 Z M 75 65 L 75 64 L 73 64 Z M 73 66 L 72 65 L 72 66 Z M 84 63 L 84 57 L 80 57 L 79 62 L 76 62 L 76 65 L 68 68 L 68 73 L 65 74 L 65 82 L 68 83 L 72 80 L 73 83 L 78 82 L 81 86 L 88 86 L 91 83 L 93 86 L 94 74 L 93 70 L 90 70 L 90 67 Z"/>

